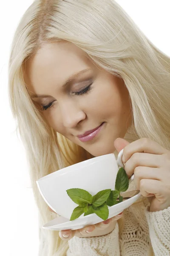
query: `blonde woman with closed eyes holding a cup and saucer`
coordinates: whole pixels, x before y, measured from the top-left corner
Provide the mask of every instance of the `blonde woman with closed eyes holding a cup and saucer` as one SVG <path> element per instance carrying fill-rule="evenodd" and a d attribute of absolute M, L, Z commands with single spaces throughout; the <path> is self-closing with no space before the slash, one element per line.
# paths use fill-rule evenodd
<path fill-rule="evenodd" d="M 125 11 L 114 0 L 35 0 L 14 35 L 9 93 L 39 209 L 39 255 L 170 255 L 170 58 Z M 142 193 L 122 218 L 42 229 L 57 214 L 36 180 L 122 148 L 135 174 L 129 189 Z"/>

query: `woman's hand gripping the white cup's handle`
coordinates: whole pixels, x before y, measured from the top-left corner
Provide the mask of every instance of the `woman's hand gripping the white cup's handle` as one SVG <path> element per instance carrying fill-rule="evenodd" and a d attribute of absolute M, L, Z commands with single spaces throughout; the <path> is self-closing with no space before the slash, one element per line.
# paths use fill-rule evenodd
<path fill-rule="evenodd" d="M 128 177 L 134 173 L 134 184 L 150 201 L 150 212 L 170 207 L 170 151 L 148 138 L 132 143 L 122 138 L 114 141 Z"/>

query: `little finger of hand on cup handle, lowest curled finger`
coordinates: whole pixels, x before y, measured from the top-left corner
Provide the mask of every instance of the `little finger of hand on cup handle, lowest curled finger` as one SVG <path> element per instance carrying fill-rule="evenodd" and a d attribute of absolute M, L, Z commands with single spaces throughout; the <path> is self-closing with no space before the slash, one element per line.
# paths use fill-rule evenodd
<path fill-rule="evenodd" d="M 168 186 L 165 186 L 160 180 L 140 180 L 140 192 L 144 197 L 147 197 L 149 194 L 154 194 L 156 198 L 162 198 L 164 195 L 170 193 L 168 191 Z"/>

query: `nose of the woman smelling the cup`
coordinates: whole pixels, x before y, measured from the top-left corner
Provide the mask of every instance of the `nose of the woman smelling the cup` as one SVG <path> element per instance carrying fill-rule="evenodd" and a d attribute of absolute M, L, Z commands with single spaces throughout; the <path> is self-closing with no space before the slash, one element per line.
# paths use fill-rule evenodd
<path fill-rule="evenodd" d="M 62 106 L 60 105 L 60 111 L 62 115 L 62 122 L 66 128 L 74 128 L 77 124 L 84 120 L 86 114 L 81 108 L 71 101 L 67 101 Z"/>

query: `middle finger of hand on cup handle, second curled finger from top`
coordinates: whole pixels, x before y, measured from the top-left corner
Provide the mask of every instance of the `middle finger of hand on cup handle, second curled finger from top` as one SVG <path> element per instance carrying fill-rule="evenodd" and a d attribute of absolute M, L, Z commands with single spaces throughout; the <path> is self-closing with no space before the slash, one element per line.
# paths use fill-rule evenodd
<path fill-rule="evenodd" d="M 164 157 L 162 157 L 162 155 L 149 154 L 149 153 L 141 153 L 141 152 L 134 153 L 130 157 L 130 159 L 127 160 L 127 162 L 125 163 L 124 169 L 127 173 L 127 176 L 131 177 L 136 167 L 139 167 L 139 166 L 152 167 L 156 171 L 156 169 L 160 168 L 161 166 L 164 166 Z"/>

